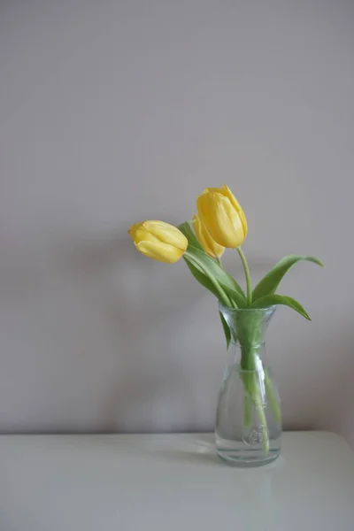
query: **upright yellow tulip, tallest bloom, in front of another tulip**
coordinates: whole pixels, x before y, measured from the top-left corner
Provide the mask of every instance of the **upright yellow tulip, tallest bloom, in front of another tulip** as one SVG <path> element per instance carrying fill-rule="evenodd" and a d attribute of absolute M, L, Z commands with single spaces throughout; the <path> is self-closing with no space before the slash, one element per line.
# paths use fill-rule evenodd
<path fill-rule="evenodd" d="M 198 214 L 210 235 L 223 247 L 239 247 L 247 235 L 247 219 L 226 184 L 204 189 L 196 200 Z"/>

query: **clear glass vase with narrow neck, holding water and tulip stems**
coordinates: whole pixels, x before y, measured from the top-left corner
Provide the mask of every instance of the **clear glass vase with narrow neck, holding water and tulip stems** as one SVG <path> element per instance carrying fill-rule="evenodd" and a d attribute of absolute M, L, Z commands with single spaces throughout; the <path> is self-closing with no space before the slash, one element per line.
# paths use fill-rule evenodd
<path fill-rule="evenodd" d="M 219 307 L 231 341 L 215 436 L 219 457 L 230 465 L 265 465 L 281 453 L 281 404 L 265 342 L 275 309 Z"/>

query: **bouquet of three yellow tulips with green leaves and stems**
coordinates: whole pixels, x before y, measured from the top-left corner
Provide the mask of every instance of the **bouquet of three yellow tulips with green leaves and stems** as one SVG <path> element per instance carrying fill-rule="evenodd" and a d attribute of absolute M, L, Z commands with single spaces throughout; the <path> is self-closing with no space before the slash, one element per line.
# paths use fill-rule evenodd
<path fill-rule="evenodd" d="M 310 319 L 303 306 L 294 298 L 279 295 L 276 290 L 290 267 L 301 260 L 322 266 L 318 258 L 297 255 L 282 258 L 252 289 L 250 268 L 241 247 L 247 235 L 247 219 L 234 194 L 226 185 L 220 189 L 204 189 L 203 194 L 197 197 L 196 209 L 197 214 L 193 219 L 182 223 L 179 227 L 173 227 L 164 221 L 143 221 L 133 225 L 129 235 L 135 242 L 136 249 L 149 258 L 169 264 L 183 257 L 196 281 L 209 289 L 224 307 L 260 309 L 284 304 L 300 313 L 305 319 Z M 245 292 L 222 266 L 221 257 L 227 248 L 237 250 L 241 259 L 246 281 Z M 237 327 L 238 337 L 235 337 L 235 329 L 219 312 L 227 347 L 231 340 L 241 344 L 241 368 L 243 371 L 251 372 L 258 367 L 256 345 L 260 334 L 260 322 L 255 319 L 257 312 L 242 313 L 241 326 Z M 245 378 L 243 384 L 250 400 L 254 404 L 259 404 L 258 382 Z M 280 407 L 272 395 L 272 382 L 268 380 L 267 373 L 265 373 L 265 384 L 273 414 L 281 422 Z M 261 408 L 259 414 L 262 415 Z M 245 422 L 247 416 L 248 412 L 245 411 Z M 265 422 L 265 419 L 262 420 Z"/>

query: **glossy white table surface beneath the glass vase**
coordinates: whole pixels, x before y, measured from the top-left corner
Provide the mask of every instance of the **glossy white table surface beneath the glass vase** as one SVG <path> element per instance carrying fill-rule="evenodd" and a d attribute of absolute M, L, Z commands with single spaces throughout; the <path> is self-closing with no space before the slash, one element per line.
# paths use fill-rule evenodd
<path fill-rule="evenodd" d="M 212 435 L 2 435 L 1 531 L 354 530 L 354 453 L 283 435 L 273 464 L 232 468 Z"/>

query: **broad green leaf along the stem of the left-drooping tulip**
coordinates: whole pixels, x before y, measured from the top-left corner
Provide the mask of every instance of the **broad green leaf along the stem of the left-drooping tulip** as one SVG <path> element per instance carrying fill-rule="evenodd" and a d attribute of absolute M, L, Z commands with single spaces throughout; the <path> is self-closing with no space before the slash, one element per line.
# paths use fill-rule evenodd
<path fill-rule="evenodd" d="M 215 279 L 215 281 L 218 282 L 219 286 L 225 291 L 227 296 L 229 296 L 231 300 L 235 301 L 235 304 L 239 308 L 246 307 L 246 297 L 243 295 L 241 287 L 238 285 L 235 279 L 230 274 L 228 274 L 225 269 L 223 269 L 222 266 L 219 266 L 219 263 L 216 260 L 207 255 L 204 250 L 199 250 L 196 247 L 193 247 L 192 245 L 189 245 L 188 252 L 192 256 L 192 258 L 195 257 L 196 261 L 201 262 L 203 264 L 207 271 L 212 274 L 212 277 Z M 189 264 L 191 263 L 191 260 L 188 256 L 185 255 L 183 258 L 188 261 Z M 210 289 L 209 286 L 212 282 L 204 273 L 203 269 L 201 269 L 194 261 L 192 262 L 192 266 L 194 266 L 194 268 L 198 270 L 198 275 L 196 277 L 194 269 L 192 270 L 189 267 L 191 273 L 194 274 L 196 280 L 203 284 L 205 288 Z M 205 279 L 202 279 L 201 275 L 204 275 Z M 215 287 L 210 290 L 215 295 Z"/>

